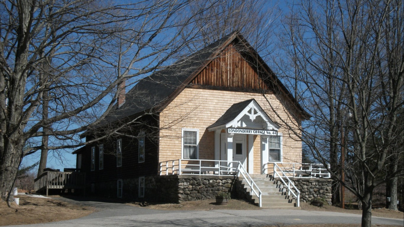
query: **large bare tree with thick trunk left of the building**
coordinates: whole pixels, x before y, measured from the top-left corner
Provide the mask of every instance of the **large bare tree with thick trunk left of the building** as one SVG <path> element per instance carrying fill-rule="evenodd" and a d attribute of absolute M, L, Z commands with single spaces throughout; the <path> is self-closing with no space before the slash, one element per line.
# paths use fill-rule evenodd
<path fill-rule="evenodd" d="M 93 143 L 78 134 L 116 109 L 126 87 L 171 64 L 194 39 L 189 25 L 204 10 L 189 13 L 181 0 L 2 1 L 1 199 L 10 198 L 24 156 Z"/>

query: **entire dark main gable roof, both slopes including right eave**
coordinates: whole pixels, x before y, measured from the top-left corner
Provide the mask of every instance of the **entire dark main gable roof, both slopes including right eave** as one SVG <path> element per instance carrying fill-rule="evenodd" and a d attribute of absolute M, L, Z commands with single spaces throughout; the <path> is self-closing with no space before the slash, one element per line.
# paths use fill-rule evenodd
<path fill-rule="evenodd" d="M 260 61 L 260 65 L 270 74 L 274 85 L 278 86 L 276 89 L 279 89 L 289 97 L 290 101 L 292 101 L 302 113 L 303 118 L 308 119 L 310 117 L 309 114 L 297 103 L 288 89 L 286 89 L 271 69 L 269 69 L 261 57 L 257 55 L 243 36 L 236 31 L 198 50 L 186 59 L 177 61 L 166 69 L 157 71 L 151 76 L 140 80 L 126 93 L 125 103 L 112 111 L 96 128 L 128 118 L 134 114 L 147 112 L 152 108 L 164 108 L 170 99 L 175 98 L 203 67 L 217 57 L 220 51 L 235 39 L 238 39 L 238 41 L 246 47 L 246 50 L 249 50 L 248 53 L 251 56 L 255 57 L 257 61 Z M 85 134 L 86 133 L 82 136 L 85 136 Z"/>

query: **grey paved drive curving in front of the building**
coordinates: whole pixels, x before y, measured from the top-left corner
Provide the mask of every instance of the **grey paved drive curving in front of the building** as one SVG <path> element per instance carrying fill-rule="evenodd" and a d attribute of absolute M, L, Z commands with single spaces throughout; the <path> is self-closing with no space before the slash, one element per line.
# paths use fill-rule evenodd
<path fill-rule="evenodd" d="M 68 200 L 65 198 L 63 199 Z M 152 210 L 112 202 L 74 200 L 69 200 L 69 202 L 80 203 L 85 206 L 94 206 L 99 211 L 94 212 L 93 214 L 90 214 L 88 216 L 69 221 L 59 221 L 34 225 L 18 225 L 18 227 L 242 227 L 277 224 L 360 224 L 361 221 L 361 216 L 358 214 L 346 214 L 325 211 L 280 209 L 169 211 Z M 403 226 L 404 221 L 399 219 L 372 217 L 372 224 Z"/>

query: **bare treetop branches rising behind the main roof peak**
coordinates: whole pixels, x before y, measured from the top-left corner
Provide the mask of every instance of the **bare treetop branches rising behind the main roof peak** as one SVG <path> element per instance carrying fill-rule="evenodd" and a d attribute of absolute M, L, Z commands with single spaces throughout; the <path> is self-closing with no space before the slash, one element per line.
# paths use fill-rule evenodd
<path fill-rule="evenodd" d="M 196 22 L 190 27 L 200 41 L 189 43 L 188 48 L 196 51 L 201 44 L 211 44 L 231 32 L 239 31 L 265 58 L 272 52 L 273 34 L 280 14 L 275 6 L 275 2 L 265 0 L 193 1 L 192 12 L 196 13 L 201 8 L 206 10 L 196 16 Z M 186 39 L 189 31 L 181 35 Z"/>

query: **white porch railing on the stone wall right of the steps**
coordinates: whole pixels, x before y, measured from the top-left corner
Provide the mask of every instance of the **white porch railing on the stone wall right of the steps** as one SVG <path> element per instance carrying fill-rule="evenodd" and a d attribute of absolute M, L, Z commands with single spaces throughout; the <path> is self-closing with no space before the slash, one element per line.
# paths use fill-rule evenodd
<path fill-rule="evenodd" d="M 323 164 L 313 163 L 292 163 L 284 162 L 278 166 L 283 172 L 287 173 L 290 177 L 299 178 L 330 178 L 331 174 Z M 328 164 L 328 168 L 330 165 Z"/>

